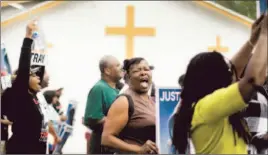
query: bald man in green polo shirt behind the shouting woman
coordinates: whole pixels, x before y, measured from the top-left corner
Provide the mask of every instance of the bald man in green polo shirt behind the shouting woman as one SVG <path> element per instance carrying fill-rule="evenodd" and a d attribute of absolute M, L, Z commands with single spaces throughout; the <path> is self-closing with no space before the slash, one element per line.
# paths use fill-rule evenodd
<path fill-rule="evenodd" d="M 84 116 L 84 124 L 92 130 L 90 154 L 101 153 L 101 134 L 108 110 L 119 90 L 116 83 L 123 77 L 120 62 L 113 56 L 104 56 L 99 62 L 101 80 L 91 88 Z"/>

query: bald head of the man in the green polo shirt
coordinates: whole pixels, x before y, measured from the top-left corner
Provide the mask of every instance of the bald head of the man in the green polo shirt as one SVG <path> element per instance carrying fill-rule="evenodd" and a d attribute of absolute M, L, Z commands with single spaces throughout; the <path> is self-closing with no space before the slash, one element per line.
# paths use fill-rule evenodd
<path fill-rule="evenodd" d="M 111 55 L 106 55 L 101 58 L 99 68 L 102 76 L 106 76 L 110 80 L 117 82 L 122 78 L 122 70 L 120 62 Z"/>

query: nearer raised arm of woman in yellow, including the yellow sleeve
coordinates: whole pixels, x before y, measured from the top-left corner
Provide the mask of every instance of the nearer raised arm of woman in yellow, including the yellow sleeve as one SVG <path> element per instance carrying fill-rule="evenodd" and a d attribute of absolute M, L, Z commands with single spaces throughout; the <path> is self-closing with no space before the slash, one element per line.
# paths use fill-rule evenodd
<path fill-rule="evenodd" d="M 238 83 L 228 88 L 216 90 L 201 99 L 195 110 L 199 118 L 202 118 L 199 120 L 212 123 L 246 108 L 256 87 L 264 84 L 266 69 L 267 16 L 262 23 L 261 35 L 254 49 L 254 54 L 247 65 L 245 76 Z"/>

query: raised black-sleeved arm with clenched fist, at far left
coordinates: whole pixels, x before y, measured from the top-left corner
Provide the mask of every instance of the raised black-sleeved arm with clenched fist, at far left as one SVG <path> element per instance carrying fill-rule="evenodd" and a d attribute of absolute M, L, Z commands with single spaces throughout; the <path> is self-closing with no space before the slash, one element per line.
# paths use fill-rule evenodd
<path fill-rule="evenodd" d="M 28 91 L 29 88 L 29 74 L 30 74 L 30 64 L 31 64 L 31 51 L 32 51 L 32 32 L 36 30 L 37 27 L 35 25 L 35 21 L 32 21 L 27 25 L 26 28 L 26 36 L 23 40 L 20 60 L 19 60 L 19 68 L 17 77 L 13 83 L 13 87 L 16 90 L 25 92 Z"/>

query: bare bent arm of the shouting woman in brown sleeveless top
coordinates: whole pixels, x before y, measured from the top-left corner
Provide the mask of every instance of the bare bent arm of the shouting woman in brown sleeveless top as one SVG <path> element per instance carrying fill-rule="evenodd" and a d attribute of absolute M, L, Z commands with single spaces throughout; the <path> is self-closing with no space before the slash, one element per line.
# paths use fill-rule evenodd
<path fill-rule="evenodd" d="M 111 106 L 102 133 L 102 145 L 115 148 L 120 151 L 132 153 L 157 153 L 156 145 L 147 141 L 143 146 L 128 144 L 118 138 L 120 132 L 128 122 L 128 100 L 125 96 L 119 97 Z"/>

